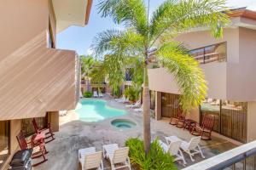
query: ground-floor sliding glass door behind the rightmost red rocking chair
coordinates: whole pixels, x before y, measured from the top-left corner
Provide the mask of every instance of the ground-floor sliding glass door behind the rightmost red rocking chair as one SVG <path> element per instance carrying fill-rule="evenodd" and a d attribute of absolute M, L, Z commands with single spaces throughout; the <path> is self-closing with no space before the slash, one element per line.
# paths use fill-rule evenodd
<path fill-rule="evenodd" d="M 215 117 L 213 130 L 239 142 L 247 142 L 247 103 L 231 100 L 206 99 L 201 104 L 202 117 Z"/>

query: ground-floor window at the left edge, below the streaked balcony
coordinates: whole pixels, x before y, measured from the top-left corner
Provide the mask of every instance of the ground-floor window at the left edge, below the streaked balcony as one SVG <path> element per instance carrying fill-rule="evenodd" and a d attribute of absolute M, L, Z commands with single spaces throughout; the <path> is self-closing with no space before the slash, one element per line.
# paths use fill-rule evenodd
<path fill-rule="evenodd" d="M 0 168 L 9 156 L 10 122 L 0 121 Z"/>

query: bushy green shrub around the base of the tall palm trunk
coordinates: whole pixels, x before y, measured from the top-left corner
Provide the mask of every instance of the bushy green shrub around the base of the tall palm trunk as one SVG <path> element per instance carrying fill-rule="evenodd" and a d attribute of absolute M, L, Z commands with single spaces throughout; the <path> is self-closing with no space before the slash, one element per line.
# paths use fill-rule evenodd
<path fill-rule="evenodd" d="M 148 151 L 144 152 L 144 144 L 140 139 L 127 139 L 125 145 L 129 147 L 131 164 L 142 170 L 176 170 L 174 159 L 160 147 L 158 139 L 154 139 Z"/>

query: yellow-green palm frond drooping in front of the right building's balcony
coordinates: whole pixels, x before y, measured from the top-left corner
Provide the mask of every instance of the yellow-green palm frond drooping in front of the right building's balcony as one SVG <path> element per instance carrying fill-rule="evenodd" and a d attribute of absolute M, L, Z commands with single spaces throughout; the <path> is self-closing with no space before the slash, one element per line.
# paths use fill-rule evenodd
<path fill-rule="evenodd" d="M 179 42 L 169 42 L 158 50 L 157 56 L 177 82 L 183 109 L 200 105 L 207 94 L 207 82 L 199 63 L 189 56 L 188 50 Z"/>

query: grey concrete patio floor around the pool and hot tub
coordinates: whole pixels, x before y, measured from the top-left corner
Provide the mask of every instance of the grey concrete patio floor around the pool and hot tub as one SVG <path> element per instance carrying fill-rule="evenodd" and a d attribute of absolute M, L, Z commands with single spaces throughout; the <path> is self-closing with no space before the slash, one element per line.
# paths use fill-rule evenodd
<path fill-rule="evenodd" d="M 127 111 L 125 116 L 113 117 L 102 122 L 81 122 L 75 111 L 69 111 L 67 116 L 60 117 L 60 131 L 55 133 L 55 140 L 46 144 L 49 154 L 44 164 L 34 167 L 34 170 L 78 170 L 78 150 L 95 146 L 96 150 L 102 150 L 103 144 L 117 143 L 124 146 L 125 140 L 131 137 L 143 138 L 143 116 L 131 109 L 126 109 L 124 104 L 119 104 L 113 99 L 108 100 L 108 105 Z M 111 125 L 116 118 L 127 118 L 137 123 L 131 129 L 121 130 Z M 176 135 L 180 139 L 189 141 L 193 136 L 183 128 L 177 128 L 168 123 L 168 120 L 155 121 L 151 119 L 152 139 L 159 137 L 164 140 L 165 136 Z M 225 150 L 236 147 L 236 144 L 225 139 L 212 137 L 212 140 L 201 140 L 201 149 L 204 155 L 209 158 Z M 184 154 L 189 165 L 203 161 L 201 156 L 195 156 L 195 162 L 190 161 L 189 156 Z M 33 160 L 34 163 L 40 159 Z M 176 163 L 177 167 L 183 168 L 182 163 Z M 188 166 L 189 166 L 188 165 Z M 108 161 L 104 161 L 104 169 L 110 169 Z"/>

